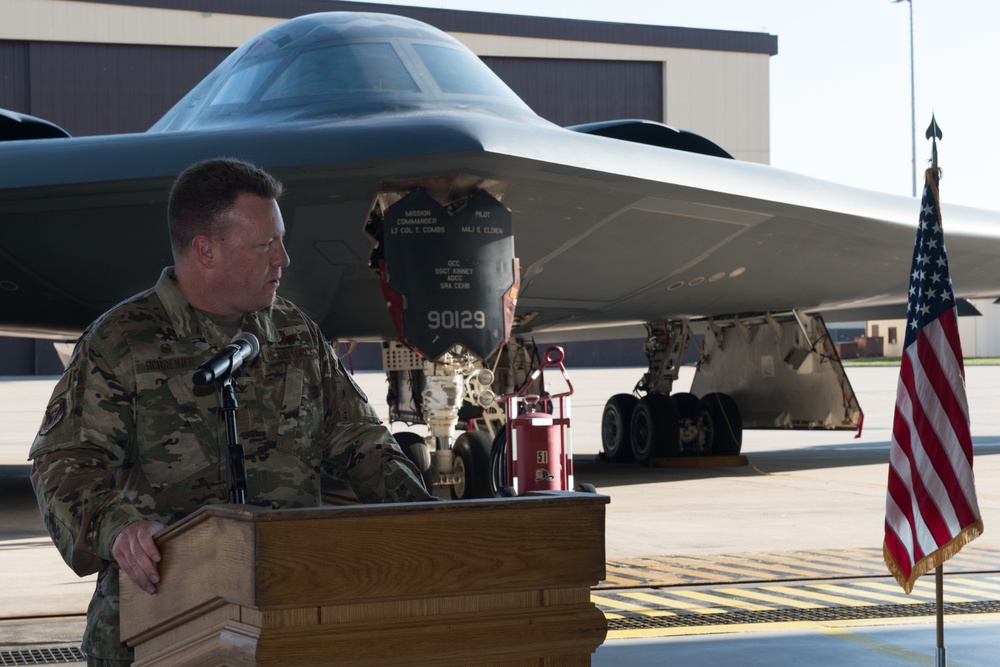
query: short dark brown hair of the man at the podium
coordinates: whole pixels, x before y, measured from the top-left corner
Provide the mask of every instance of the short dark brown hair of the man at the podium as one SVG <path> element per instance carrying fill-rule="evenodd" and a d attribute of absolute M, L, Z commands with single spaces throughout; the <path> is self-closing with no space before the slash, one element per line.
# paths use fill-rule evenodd
<path fill-rule="evenodd" d="M 243 194 L 263 199 L 281 196 L 281 182 L 249 162 L 216 158 L 191 165 L 177 177 L 167 204 L 167 226 L 174 255 L 199 235 L 225 235 L 226 214 Z"/>

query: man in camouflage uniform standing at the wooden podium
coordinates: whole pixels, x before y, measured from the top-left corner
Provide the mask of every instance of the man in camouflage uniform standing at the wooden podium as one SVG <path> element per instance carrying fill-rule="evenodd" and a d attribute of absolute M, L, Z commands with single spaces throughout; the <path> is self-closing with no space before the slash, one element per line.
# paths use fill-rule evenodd
<path fill-rule="evenodd" d="M 168 221 L 174 267 L 80 339 L 31 448 L 46 526 L 81 575 L 99 572 L 83 651 L 128 665 L 119 569 L 154 593 L 153 535 L 229 500 L 216 387 L 194 370 L 237 331 L 260 355 L 234 381 L 248 503 L 320 504 L 320 470 L 362 502 L 432 500 L 314 322 L 277 297 L 288 265 L 281 184 L 252 165 L 210 160 L 177 179 Z"/>

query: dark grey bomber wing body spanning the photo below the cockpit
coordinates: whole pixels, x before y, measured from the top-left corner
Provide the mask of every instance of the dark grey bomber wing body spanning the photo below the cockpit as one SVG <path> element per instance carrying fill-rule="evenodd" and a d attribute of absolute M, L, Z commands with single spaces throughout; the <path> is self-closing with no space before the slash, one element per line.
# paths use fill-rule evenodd
<path fill-rule="evenodd" d="M 905 302 L 919 214 L 908 197 L 490 116 L 10 142 L 0 329 L 78 333 L 151 285 L 170 263 L 170 184 L 218 155 L 285 182 L 282 291 L 333 338 L 392 335 L 362 230 L 376 195 L 408 184 L 501 194 L 532 329 Z M 957 294 L 995 296 L 1000 214 L 943 220 Z"/>

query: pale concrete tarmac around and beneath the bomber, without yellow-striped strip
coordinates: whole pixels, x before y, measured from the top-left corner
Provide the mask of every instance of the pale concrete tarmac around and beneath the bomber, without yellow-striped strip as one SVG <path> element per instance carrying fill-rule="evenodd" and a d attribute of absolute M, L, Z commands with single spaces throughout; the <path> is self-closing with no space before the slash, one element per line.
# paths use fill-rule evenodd
<path fill-rule="evenodd" d="M 609 561 L 881 547 L 898 368 L 848 368 L 865 411 L 859 438 L 850 431 L 747 431 L 747 466 L 640 468 L 600 462 L 596 454 L 605 401 L 629 392 L 642 369 L 574 370 L 567 361 L 574 385 L 576 481 L 590 482 L 611 498 Z M 978 498 L 987 530 L 962 552 L 975 556 L 1000 549 L 991 532 L 1000 520 L 1000 367 L 966 370 Z M 692 369 L 683 369 L 675 389 L 684 391 L 692 375 Z M 383 376 L 356 377 L 380 414 L 386 414 Z M 77 578 L 52 547 L 27 480 L 28 448 L 54 383 L 55 378 L 0 382 L 0 653 L 77 643 L 80 614 L 93 590 L 93 577 Z M 393 427 L 407 430 L 402 424 Z M 712 634 L 691 628 L 669 637 L 653 632 L 644 638 L 609 638 L 594 664 L 933 665 L 933 624 L 927 618 L 905 622 L 811 622 L 780 630 L 760 624 L 712 628 Z M 948 617 L 946 626 L 949 665 L 997 664 L 1000 633 L 992 614 Z"/>

